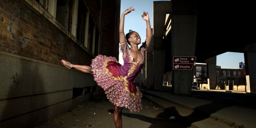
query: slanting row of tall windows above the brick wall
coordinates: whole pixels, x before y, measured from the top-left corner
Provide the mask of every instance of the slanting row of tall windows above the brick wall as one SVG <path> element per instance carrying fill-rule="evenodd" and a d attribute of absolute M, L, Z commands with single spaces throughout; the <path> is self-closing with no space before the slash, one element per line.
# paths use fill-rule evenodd
<path fill-rule="evenodd" d="M 74 35 L 88 51 L 98 54 L 100 32 L 85 6 L 85 0 L 36 0 L 36 2 L 55 17 L 56 21 Z M 101 0 L 98 2 L 100 4 Z"/>

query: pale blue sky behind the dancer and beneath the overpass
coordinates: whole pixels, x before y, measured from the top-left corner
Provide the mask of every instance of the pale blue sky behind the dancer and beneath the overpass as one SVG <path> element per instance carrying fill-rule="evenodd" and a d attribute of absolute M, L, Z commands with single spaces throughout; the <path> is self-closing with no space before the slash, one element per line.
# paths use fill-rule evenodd
<path fill-rule="evenodd" d="M 141 18 L 143 10 L 149 13 L 151 28 L 153 28 L 153 1 L 170 1 L 170 0 L 121 0 L 121 13 L 128 9 L 130 6 L 135 8 L 124 18 L 124 33 L 128 33 L 129 30 L 134 30 L 141 36 L 141 42 L 146 38 L 146 22 Z M 140 45 L 139 45 L 140 47 Z M 216 65 L 226 69 L 239 69 L 239 63 L 244 61 L 243 53 L 238 52 L 226 52 L 217 56 Z M 119 63 L 123 64 L 121 54 L 119 54 Z"/>

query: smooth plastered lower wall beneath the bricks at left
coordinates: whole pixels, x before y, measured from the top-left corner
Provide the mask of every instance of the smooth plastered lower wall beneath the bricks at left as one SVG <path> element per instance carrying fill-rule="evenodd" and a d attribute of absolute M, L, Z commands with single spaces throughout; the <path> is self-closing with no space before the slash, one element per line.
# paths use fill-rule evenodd
<path fill-rule="evenodd" d="M 40 124 L 88 99 L 73 99 L 74 88 L 96 86 L 92 75 L 58 65 L 6 52 L 0 62 L 1 128 Z"/>

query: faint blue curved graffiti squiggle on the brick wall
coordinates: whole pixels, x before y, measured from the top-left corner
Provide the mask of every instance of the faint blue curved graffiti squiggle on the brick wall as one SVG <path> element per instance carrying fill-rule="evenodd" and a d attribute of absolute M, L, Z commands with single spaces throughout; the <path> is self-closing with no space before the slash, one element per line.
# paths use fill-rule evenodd
<path fill-rule="evenodd" d="M 13 18 L 12 22 L 11 22 L 11 25 L 10 25 L 10 32 L 11 32 L 11 35 L 13 37 L 13 39 L 15 39 L 18 43 L 21 43 L 21 44 L 24 44 L 26 43 L 26 39 L 32 41 L 29 37 L 22 37 L 22 39 L 19 39 L 19 38 L 16 38 L 16 36 L 14 35 L 13 33 L 13 23 L 15 22 L 15 20 L 17 20 L 17 18 L 22 14 L 22 13 L 25 13 L 26 15 L 29 16 L 29 14 L 27 13 L 28 9 L 22 9 L 22 8 L 17 8 L 17 7 L 14 7 L 13 11 L 16 13 L 15 17 Z M 20 12 L 19 12 L 20 11 Z M 30 17 L 30 16 L 29 16 Z"/>

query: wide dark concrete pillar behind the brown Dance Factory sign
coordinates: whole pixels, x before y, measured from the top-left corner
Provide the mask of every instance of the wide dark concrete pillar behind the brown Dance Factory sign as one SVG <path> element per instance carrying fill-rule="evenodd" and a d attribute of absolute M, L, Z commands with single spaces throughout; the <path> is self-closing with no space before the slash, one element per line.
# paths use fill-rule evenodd
<path fill-rule="evenodd" d="M 173 56 L 195 56 L 197 16 L 173 15 L 171 21 L 172 58 Z M 192 70 L 173 70 L 173 72 L 174 93 L 190 95 L 193 82 Z"/>

